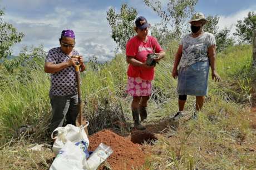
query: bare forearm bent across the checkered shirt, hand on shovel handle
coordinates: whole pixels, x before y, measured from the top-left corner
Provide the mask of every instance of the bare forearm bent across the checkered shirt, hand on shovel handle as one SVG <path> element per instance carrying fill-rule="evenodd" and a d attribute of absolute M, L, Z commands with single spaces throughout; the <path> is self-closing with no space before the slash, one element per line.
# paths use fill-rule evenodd
<path fill-rule="evenodd" d="M 56 73 L 61 71 L 64 68 L 70 67 L 70 66 L 75 66 L 77 59 L 76 58 L 71 58 L 67 62 L 62 62 L 62 63 L 52 63 L 52 62 L 46 62 L 45 63 L 45 72 L 46 73 Z"/>

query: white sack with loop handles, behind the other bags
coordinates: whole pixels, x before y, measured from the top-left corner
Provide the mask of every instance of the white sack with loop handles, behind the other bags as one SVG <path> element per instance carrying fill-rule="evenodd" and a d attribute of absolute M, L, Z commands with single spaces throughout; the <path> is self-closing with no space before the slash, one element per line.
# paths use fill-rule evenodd
<path fill-rule="evenodd" d="M 67 124 L 65 127 L 58 127 L 53 132 L 58 131 L 58 135 L 53 138 L 53 132 L 52 132 L 52 139 L 56 139 L 53 143 L 52 150 L 55 153 L 55 155 L 58 154 L 60 149 L 64 146 L 64 144 L 67 141 L 77 143 L 84 141 L 87 143 L 87 146 L 89 146 L 89 139 L 85 133 L 84 128 L 88 126 L 88 122 L 86 121 L 85 126 L 76 127 L 72 124 Z"/>

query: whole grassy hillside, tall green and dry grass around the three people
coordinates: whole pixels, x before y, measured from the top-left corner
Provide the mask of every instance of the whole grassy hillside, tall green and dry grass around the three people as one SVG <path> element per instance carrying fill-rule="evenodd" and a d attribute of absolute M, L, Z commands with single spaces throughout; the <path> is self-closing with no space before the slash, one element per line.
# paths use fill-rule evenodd
<path fill-rule="evenodd" d="M 178 111 L 176 80 L 171 77 L 176 43 L 166 49 L 166 58 L 156 66 L 154 92 L 149 102 L 147 124 L 161 124 L 161 119 Z M 214 83 L 209 78 L 209 95 L 198 121 L 186 121 L 152 146 L 144 168 L 149 169 L 255 169 L 255 132 L 244 119 L 250 104 L 250 71 L 252 49 L 235 46 L 218 54 L 218 72 L 223 79 Z M 88 63 L 82 74 L 82 98 L 90 120 L 90 133 L 112 127 L 112 115 L 131 121 L 131 97 L 125 93 L 125 56 L 117 55 L 109 63 Z M 50 151 L 27 151 L 31 143 L 47 141 L 45 129 L 50 119 L 48 90 L 50 76 L 43 68 L 17 68 L 13 73 L 0 69 L 0 169 L 47 169 Z M 186 111 L 192 112 L 195 98 L 189 97 Z M 105 118 L 104 123 L 101 120 Z M 38 131 L 29 138 L 14 139 L 16 129 L 36 124 Z M 26 160 L 26 161 L 25 161 Z M 2 166 L 2 167 L 1 167 Z"/>

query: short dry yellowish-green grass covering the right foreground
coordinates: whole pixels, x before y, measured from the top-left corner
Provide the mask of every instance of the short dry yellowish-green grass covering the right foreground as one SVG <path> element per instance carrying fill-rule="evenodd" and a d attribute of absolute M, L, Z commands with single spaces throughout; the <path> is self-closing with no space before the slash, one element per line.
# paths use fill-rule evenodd
<path fill-rule="evenodd" d="M 249 148 L 256 138 L 243 118 L 246 113 L 238 104 L 212 97 L 198 121 L 180 123 L 174 137 L 162 137 L 150 148 L 150 168 L 255 169 L 255 152 Z"/>

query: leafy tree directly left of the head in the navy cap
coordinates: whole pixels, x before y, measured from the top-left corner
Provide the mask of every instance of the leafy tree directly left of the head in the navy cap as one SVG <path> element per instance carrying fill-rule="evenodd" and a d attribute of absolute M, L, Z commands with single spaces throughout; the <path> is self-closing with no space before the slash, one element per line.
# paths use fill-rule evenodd
<path fill-rule="evenodd" d="M 122 4 L 120 13 L 116 13 L 114 8 L 107 11 L 107 21 L 112 29 L 111 37 L 124 51 L 127 41 L 135 36 L 134 21 L 137 16 L 135 8 L 129 8 L 127 4 Z"/>

